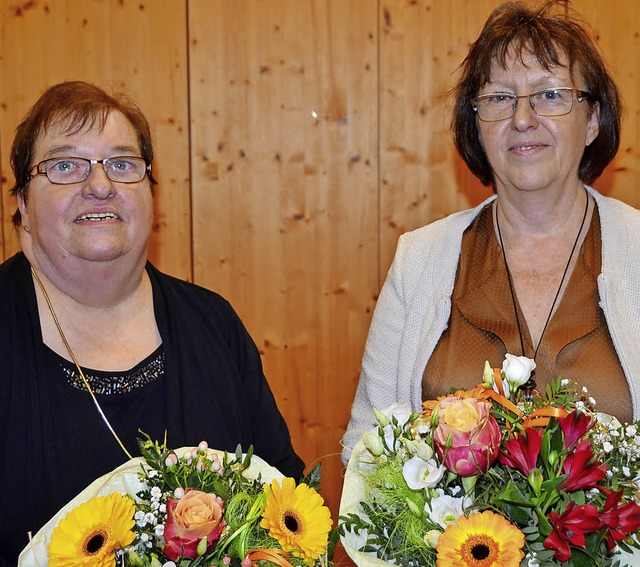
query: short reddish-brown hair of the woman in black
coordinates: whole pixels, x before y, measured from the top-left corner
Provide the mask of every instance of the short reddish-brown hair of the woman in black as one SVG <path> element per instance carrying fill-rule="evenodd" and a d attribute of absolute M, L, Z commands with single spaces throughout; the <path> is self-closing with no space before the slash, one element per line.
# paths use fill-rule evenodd
<path fill-rule="evenodd" d="M 14 197 L 20 195 L 27 202 L 33 148 L 38 137 L 53 124 L 64 124 L 64 131 L 68 134 L 93 126 L 102 129 L 109 114 L 114 111 L 121 112 L 131 123 L 138 136 L 141 156 L 150 164 L 153 161 L 151 130 L 133 100 L 122 93 L 109 95 L 101 88 L 83 81 L 66 81 L 49 87 L 16 128 L 10 157 L 16 183 L 11 188 L 11 194 Z M 151 173 L 149 179 L 152 185 L 156 183 Z M 20 226 L 22 219 L 19 209 L 12 220 L 15 227 Z"/>

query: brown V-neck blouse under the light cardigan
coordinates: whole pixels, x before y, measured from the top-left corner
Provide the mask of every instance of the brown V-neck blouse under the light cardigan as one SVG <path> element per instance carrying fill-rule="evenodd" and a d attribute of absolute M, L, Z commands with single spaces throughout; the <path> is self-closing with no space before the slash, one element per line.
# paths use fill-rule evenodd
<path fill-rule="evenodd" d="M 543 387 L 561 376 L 588 389 L 596 408 L 630 422 L 627 380 L 598 302 L 601 239 L 597 208 L 567 287 L 544 332 L 536 356 L 535 380 Z M 525 355 L 534 347 L 520 310 Z M 485 360 L 502 366 L 504 355 L 521 355 L 520 336 L 500 245 L 487 205 L 462 237 L 449 326 L 429 359 L 422 379 L 423 400 L 450 387 L 471 388 L 482 381 Z"/>

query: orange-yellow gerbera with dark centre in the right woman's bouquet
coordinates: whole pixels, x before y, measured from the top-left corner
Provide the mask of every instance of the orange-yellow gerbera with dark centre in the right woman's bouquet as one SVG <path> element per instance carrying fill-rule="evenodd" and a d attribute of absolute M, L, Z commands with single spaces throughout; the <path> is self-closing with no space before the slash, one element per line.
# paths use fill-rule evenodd
<path fill-rule="evenodd" d="M 438 567 L 519 567 L 524 535 L 493 512 L 460 517 L 438 539 Z"/>

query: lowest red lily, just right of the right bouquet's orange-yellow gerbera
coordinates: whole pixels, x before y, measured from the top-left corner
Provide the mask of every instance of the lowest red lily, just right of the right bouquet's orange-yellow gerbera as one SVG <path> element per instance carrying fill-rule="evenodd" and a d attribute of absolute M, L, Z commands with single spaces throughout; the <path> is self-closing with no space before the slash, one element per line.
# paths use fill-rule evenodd
<path fill-rule="evenodd" d="M 571 557 L 572 543 L 577 547 L 584 547 L 584 534 L 597 532 L 602 527 L 598 516 L 598 509 L 592 504 L 575 507 L 575 502 L 569 502 L 562 514 L 549 512 L 549 521 L 553 531 L 544 540 L 545 549 L 553 549 L 554 557 L 558 561 L 568 561 Z"/>

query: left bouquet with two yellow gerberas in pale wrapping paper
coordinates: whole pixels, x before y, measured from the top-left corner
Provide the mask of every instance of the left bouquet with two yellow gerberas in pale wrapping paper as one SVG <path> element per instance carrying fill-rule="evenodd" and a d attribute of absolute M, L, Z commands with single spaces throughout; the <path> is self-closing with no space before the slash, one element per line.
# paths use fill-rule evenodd
<path fill-rule="evenodd" d="M 328 565 L 329 509 L 305 482 L 238 447 L 175 451 L 139 440 L 142 457 L 95 481 L 20 555 L 20 567 Z"/>

